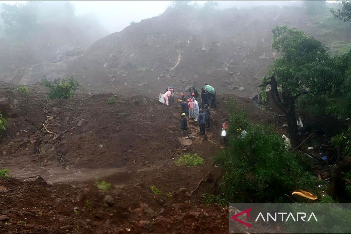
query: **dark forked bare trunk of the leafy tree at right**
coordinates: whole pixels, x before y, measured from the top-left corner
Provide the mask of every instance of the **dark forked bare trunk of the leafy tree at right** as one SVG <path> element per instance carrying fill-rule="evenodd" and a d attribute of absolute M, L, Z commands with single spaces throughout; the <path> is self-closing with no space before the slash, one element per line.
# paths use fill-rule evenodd
<path fill-rule="evenodd" d="M 269 84 L 271 85 L 271 95 L 274 103 L 281 109 L 286 116 L 287 127 L 289 130 L 289 138 L 291 147 L 294 149 L 299 145 L 299 135 L 297 129 L 295 99 L 290 94 L 283 93 L 283 101 L 279 97 L 278 84 L 274 76 L 270 77 Z"/>

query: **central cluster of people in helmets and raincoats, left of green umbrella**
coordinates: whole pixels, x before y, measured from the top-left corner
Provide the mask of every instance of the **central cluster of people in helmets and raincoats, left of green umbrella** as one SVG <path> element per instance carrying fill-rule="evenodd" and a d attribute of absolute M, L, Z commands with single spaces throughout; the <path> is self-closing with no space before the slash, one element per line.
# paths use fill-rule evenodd
<path fill-rule="evenodd" d="M 206 134 L 206 128 L 210 127 L 210 109 L 208 104 L 204 104 L 203 107 L 199 107 L 197 99 L 199 98 L 199 92 L 196 88 L 190 89 L 190 95 L 185 98 L 184 93 L 180 93 L 180 108 L 181 108 L 181 119 L 180 129 L 187 131 L 187 116 L 188 118 L 197 121 L 200 126 L 200 134 Z M 201 102 L 202 104 L 202 102 Z"/>

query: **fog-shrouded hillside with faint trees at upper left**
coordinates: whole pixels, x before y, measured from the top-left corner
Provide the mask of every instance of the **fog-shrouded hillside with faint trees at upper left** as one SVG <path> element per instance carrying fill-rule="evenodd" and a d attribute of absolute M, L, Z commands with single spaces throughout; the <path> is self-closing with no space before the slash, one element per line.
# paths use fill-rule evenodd
<path fill-rule="evenodd" d="M 34 83 L 50 69 L 57 76 L 65 75 L 65 62 L 108 34 L 92 15 L 76 16 L 68 2 L 2 4 L 0 13 L 3 81 Z"/>

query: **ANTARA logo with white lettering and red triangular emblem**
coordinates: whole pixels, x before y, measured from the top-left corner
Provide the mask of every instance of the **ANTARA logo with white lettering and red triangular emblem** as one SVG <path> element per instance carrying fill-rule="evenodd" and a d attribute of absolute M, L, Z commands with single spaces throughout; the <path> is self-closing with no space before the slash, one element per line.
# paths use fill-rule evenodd
<path fill-rule="evenodd" d="M 249 209 L 246 209 L 246 210 L 243 210 L 242 212 L 236 214 L 236 215 L 233 215 L 232 216 L 232 219 L 239 222 L 239 223 L 242 223 L 243 225 L 247 226 L 247 227 L 250 227 L 251 228 L 251 224 L 250 223 L 247 223 L 246 221 L 249 219 L 249 212 L 251 211 L 251 207 Z M 240 220 L 238 219 L 237 217 L 242 215 L 242 214 L 246 214 L 246 220 L 245 222 L 243 220 Z M 277 214 L 278 215 L 281 215 L 282 219 L 279 220 L 277 219 Z M 286 219 L 284 219 L 284 215 L 287 215 L 285 216 Z M 266 214 L 266 219 L 264 218 L 263 214 L 260 212 L 258 215 L 257 215 L 257 218 L 255 220 L 255 222 L 257 222 L 257 220 L 259 218 L 261 218 L 264 222 L 269 222 L 269 217 L 271 218 L 271 220 L 273 220 L 274 222 L 277 222 L 278 221 L 281 221 L 281 222 L 287 222 L 289 220 L 289 218 L 291 217 L 292 220 L 294 220 L 294 222 L 298 222 L 299 221 L 299 218 L 300 220 L 304 221 L 304 222 L 309 222 L 311 220 L 311 218 L 313 217 L 314 220 L 316 220 L 316 222 L 318 222 L 317 218 L 316 218 L 316 215 L 314 215 L 314 213 L 312 212 L 311 215 L 309 216 L 308 220 L 305 220 L 306 218 L 306 213 L 304 212 L 297 212 L 296 213 L 296 216 L 294 216 L 291 212 L 288 214 L 287 212 L 278 212 L 278 213 L 274 213 L 274 215 L 271 215 L 270 213 L 267 212 Z M 296 217 L 296 219 L 295 219 Z"/>

